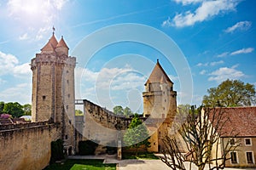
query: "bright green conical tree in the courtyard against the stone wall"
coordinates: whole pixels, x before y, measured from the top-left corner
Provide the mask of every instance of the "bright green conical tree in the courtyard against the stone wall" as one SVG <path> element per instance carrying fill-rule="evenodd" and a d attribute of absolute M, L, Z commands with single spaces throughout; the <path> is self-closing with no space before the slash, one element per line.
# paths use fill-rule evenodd
<path fill-rule="evenodd" d="M 125 132 L 124 135 L 124 142 L 127 146 L 131 148 L 136 149 L 136 155 L 138 148 L 140 148 L 143 144 L 146 147 L 150 146 L 150 142 L 148 134 L 148 128 L 145 126 L 145 124 L 138 118 L 138 115 L 136 114 L 128 127 L 128 129 Z"/>

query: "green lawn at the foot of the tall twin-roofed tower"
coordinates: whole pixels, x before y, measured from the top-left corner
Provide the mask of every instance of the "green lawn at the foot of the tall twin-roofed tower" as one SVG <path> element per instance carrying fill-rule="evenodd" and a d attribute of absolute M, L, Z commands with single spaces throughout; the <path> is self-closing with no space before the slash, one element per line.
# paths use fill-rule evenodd
<path fill-rule="evenodd" d="M 44 170 L 115 170 L 116 164 L 103 164 L 103 160 L 67 160 L 62 163 L 54 163 Z"/>

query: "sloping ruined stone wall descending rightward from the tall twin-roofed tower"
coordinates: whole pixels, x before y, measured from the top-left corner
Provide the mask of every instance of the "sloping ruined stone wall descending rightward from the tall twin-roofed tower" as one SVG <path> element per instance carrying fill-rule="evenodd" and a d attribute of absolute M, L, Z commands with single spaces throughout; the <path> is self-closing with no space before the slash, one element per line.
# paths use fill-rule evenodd
<path fill-rule="evenodd" d="M 131 120 L 115 116 L 113 112 L 84 99 L 84 140 L 94 140 L 102 145 L 117 144 L 117 128 L 124 130 L 130 122 Z"/>

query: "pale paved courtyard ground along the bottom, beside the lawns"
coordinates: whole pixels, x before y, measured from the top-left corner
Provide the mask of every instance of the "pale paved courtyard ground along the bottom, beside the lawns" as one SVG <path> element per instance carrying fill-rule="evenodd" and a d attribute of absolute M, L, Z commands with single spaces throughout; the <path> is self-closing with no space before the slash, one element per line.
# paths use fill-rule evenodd
<path fill-rule="evenodd" d="M 101 156 L 69 156 L 69 159 L 102 159 L 104 163 L 117 163 L 118 170 L 170 170 L 165 163 L 160 160 L 117 160 L 116 155 Z M 189 169 L 189 164 L 185 165 Z M 192 167 L 192 169 L 197 169 Z M 207 168 L 206 168 L 207 169 Z M 255 168 L 224 168 L 224 170 L 253 170 Z"/>

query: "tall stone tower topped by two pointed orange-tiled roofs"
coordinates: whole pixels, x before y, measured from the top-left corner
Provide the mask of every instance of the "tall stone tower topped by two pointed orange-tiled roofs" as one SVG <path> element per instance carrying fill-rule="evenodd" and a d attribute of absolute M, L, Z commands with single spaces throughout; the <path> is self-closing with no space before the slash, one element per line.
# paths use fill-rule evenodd
<path fill-rule="evenodd" d="M 60 123 L 60 138 L 70 151 L 74 146 L 76 58 L 68 56 L 68 49 L 63 37 L 57 42 L 53 32 L 41 53 L 31 61 L 32 122 Z"/>

